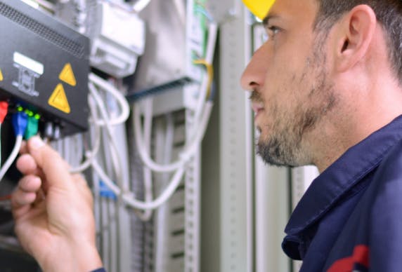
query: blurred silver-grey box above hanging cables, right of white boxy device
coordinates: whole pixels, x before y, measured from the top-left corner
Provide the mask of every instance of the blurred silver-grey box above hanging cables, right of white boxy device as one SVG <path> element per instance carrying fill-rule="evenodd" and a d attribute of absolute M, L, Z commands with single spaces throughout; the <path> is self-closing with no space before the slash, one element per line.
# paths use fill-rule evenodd
<path fill-rule="evenodd" d="M 202 80 L 202 67 L 193 63 L 205 50 L 207 18 L 197 11 L 201 2 L 153 0 L 143 11 L 147 46 L 129 98 Z"/>

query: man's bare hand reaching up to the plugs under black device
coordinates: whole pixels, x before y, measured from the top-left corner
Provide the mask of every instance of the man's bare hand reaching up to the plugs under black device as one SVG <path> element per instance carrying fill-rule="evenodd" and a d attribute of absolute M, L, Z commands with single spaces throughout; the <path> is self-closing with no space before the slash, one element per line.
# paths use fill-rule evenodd
<path fill-rule="evenodd" d="M 44 271 L 91 271 L 102 266 L 96 250 L 93 198 L 81 175 L 39 137 L 22 149 L 24 177 L 13 193 L 15 232 Z"/>

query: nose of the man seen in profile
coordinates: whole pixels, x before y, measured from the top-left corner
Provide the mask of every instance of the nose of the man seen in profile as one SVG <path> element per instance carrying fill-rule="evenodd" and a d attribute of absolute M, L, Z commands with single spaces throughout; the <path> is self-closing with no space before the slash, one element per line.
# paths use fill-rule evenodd
<path fill-rule="evenodd" d="M 264 86 L 268 58 L 264 48 L 259 48 L 253 55 L 240 79 L 243 90 L 255 90 Z"/>

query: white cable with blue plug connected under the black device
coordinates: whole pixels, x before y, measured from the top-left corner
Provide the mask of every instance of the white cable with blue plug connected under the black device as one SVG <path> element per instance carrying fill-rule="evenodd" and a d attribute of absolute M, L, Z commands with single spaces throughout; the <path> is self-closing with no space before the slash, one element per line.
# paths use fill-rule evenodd
<path fill-rule="evenodd" d="M 13 161 L 15 161 L 15 158 L 18 156 L 18 152 L 20 151 L 21 145 L 22 145 L 22 137 L 24 136 L 25 129 L 27 128 L 27 114 L 25 114 L 24 111 L 18 111 L 17 113 L 13 114 L 13 128 L 15 131 L 15 145 L 13 148 L 13 151 L 11 151 L 10 156 L 8 156 L 8 159 L 6 163 L 1 167 L 0 170 L 0 181 L 3 179 L 4 175 L 6 175 L 6 172 L 10 168 L 11 164 L 13 164 Z"/>

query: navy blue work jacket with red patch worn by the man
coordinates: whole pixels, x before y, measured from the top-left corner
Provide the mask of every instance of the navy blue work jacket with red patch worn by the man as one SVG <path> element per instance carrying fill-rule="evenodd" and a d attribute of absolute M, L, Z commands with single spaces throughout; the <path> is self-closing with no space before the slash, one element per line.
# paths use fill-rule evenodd
<path fill-rule="evenodd" d="M 288 222 L 283 250 L 301 272 L 402 271 L 402 117 L 318 176 Z"/>

